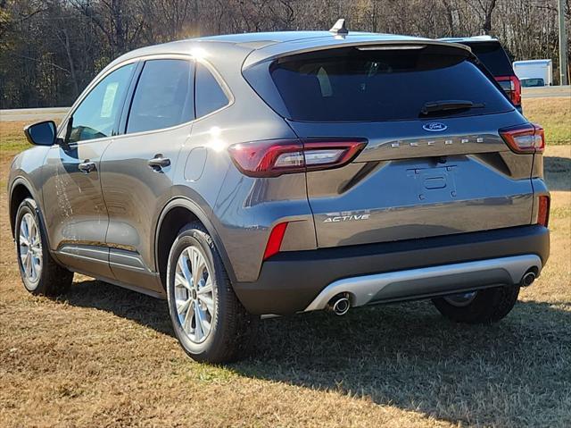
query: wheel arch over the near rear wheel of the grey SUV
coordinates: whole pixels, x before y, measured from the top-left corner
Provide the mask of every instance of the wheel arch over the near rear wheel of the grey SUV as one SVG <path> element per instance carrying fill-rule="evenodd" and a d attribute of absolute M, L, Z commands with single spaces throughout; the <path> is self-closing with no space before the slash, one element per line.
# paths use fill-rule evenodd
<path fill-rule="evenodd" d="M 230 281 L 234 283 L 236 276 L 229 262 L 228 254 L 208 215 L 192 200 L 186 197 L 177 197 L 176 199 L 172 199 L 162 209 L 155 228 L 153 246 L 154 264 L 160 275 L 162 286 L 164 287 L 166 284 L 170 248 L 175 239 L 177 239 L 178 232 L 190 222 L 200 222 L 203 224 L 219 251 L 220 258 L 226 268 Z"/>

